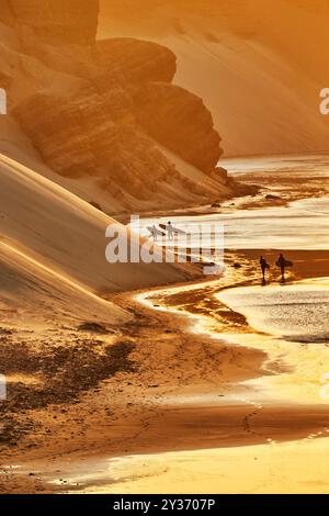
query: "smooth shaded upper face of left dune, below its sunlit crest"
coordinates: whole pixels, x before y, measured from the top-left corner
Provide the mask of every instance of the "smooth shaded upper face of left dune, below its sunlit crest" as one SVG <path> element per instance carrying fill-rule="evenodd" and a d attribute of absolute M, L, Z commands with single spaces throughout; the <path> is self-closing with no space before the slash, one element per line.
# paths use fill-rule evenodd
<path fill-rule="evenodd" d="M 107 263 L 105 228 L 113 218 L 3 155 L 0 172 L 1 239 L 76 288 L 104 294 L 190 277 L 171 263 Z"/>

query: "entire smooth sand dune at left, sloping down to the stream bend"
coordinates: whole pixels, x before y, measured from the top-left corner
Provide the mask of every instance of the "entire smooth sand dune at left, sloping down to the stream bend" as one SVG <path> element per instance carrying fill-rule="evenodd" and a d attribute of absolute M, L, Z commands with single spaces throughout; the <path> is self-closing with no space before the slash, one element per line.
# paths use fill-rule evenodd
<path fill-rule="evenodd" d="M 99 295 L 189 278 L 184 268 L 170 263 L 110 265 L 105 228 L 114 221 L 3 155 L 0 205 L 4 304 L 14 305 L 10 300 L 15 299 L 19 306 L 36 302 L 48 310 L 55 303 L 60 312 L 122 319 L 126 314 Z"/>

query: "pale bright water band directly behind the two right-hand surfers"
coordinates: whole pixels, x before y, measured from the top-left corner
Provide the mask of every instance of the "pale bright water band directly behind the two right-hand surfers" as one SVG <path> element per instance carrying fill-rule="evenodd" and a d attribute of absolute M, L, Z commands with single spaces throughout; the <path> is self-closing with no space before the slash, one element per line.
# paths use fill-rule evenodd
<path fill-rule="evenodd" d="M 148 226 L 169 217 L 141 218 L 132 228 L 149 237 Z M 237 210 L 226 214 L 171 216 L 171 223 L 191 237 L 196 247 L 202 233 L 205 247 L 225 249 L 329 249 L 329 195 L 294 201 L 287 206 Z M 217 244 L 214 233 L 217 234 Z M 190 240 L 189 240 L 190 242 Z M 179 237 L 177 244 L 182 239 Z M 168 245 L 160 237 L 158 245 Z"/>

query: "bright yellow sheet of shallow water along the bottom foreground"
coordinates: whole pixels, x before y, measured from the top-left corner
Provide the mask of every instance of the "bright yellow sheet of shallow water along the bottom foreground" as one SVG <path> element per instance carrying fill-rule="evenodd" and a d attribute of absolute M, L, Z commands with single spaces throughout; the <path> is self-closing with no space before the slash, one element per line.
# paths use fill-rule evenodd
<path fill-rule="evenodd" d="M 83 473 L 70 482 L 80 485 L 76 492 L 89 494 L 328 493 L 328 438 L 309 438 L 281 445 L 271 441 L 129 456 L 99 463 L 94 474 L 89 473 L 84 487 Z"/>

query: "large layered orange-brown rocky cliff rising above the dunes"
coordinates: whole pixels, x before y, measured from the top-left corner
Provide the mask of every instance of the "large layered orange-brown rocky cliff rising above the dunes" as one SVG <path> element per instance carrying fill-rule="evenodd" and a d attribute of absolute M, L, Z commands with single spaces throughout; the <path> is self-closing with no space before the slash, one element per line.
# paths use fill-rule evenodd
<path fill-rule="evenodd" d="M 171 85 L 172 52 L 132 38 L 95 43 L 98 1 L 79 16 L 72 0 L 7 4 L 18 36 L 0 48 L 11 112 L 54 171 L 92 179 L 126 210 L 166 195 L 168 206 L 227 195 L 225 175 L 212 173 L 220 148 L 211 113 Z"/>

